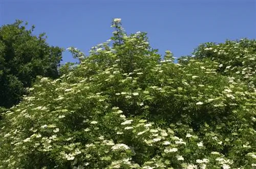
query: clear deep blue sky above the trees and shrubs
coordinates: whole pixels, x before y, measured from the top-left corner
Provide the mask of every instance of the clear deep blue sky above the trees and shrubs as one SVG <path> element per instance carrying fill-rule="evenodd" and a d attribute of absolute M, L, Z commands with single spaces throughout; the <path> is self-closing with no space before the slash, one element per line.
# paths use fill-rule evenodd
<path fill-rule="evenodd" d="M 256 39 L 256 2 L 241 1 L 11 1 L 0 0 L 0 24 L 15 19 L 46 32 L 50 45 L 78 47 L 88 54 L 114 31 L 113 18 L 121 18 L 128 34 L 147 32 L 160 54 L 189 55 L 203 42 Z M 69 52 L 63 62 L 74 61 Z"/>

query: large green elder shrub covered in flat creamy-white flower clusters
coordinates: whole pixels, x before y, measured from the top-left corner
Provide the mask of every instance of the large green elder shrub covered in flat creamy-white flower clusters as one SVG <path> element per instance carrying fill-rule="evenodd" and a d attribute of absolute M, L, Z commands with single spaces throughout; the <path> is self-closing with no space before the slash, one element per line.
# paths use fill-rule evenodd
<path fill-rule="evenodd" d="M 161 60 L 146 33 L 127 36 L 120 19 L 112 27 L 88 57 L 70 47 L 80 64 L 56 80 L 38 77 L 4 113 L 0 168 L 256 165 L 255 41 L 201 45 L 176 64 L 170 51 Z M 240 56 L 237 68 L 251 78 L 235 76 L 227 56 Z"/>

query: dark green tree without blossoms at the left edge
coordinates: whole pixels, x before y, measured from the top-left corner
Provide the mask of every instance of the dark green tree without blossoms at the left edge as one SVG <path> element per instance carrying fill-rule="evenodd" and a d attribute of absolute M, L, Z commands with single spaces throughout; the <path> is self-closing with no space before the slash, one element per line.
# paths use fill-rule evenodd
<path fill-rule="evenodd" d="M 58 78 L 62 50 L 32 35 L 22 21 L 0 28 L 0 107 L 10 108 L 26 94 L 36 76 Z"/>

